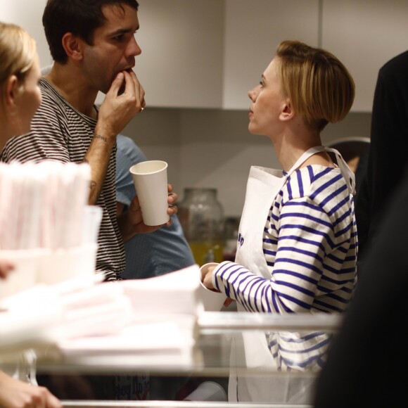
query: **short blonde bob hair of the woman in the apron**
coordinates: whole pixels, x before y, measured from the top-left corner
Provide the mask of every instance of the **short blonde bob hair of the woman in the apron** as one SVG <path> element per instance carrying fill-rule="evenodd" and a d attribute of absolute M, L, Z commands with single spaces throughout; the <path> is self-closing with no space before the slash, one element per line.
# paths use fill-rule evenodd
<path fill-rule="evenodd" d="M 355 98 L 355 83 L 336 56 L 298 41 L 281 42 L 276 56 L 282 90 L 307 124 L 322 130 L 345 118 Z"/>

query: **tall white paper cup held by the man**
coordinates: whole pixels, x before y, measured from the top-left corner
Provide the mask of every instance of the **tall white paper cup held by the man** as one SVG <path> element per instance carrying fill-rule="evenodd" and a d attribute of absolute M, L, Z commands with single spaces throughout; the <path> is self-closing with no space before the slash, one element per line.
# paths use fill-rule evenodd
<path fill-rule="evenodd" d="M 146 225 L 162 225 L 167 214 L 167 163 L 161 160 L 140 162 L 130 167 Z"/>

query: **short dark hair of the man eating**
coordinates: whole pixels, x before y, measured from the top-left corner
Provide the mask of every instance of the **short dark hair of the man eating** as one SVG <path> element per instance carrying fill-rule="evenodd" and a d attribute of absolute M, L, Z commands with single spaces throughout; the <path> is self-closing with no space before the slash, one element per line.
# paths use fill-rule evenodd
<path fill-rule="evenodd" d="M 48 0 L 42 15 L 42 25 L 53 60 L 66 63 L 68 56 L 62 45 L 67 32 L 77 35 L 92 45 L 94 32 L 105 23 L 102 7 L 114 5 L 123 8 L 127 4 L 136 11 L 136 0 Z"/>

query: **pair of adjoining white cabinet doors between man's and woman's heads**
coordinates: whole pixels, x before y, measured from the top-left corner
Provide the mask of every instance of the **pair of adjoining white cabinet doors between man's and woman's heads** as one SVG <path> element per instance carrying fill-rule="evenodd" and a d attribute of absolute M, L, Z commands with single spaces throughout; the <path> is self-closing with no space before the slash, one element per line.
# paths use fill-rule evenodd
<path fill-rule="evenodd" d="M 318 0 L 140 0 L 146 103 L 247 109 L 283 39 L 317 45 Z"/>

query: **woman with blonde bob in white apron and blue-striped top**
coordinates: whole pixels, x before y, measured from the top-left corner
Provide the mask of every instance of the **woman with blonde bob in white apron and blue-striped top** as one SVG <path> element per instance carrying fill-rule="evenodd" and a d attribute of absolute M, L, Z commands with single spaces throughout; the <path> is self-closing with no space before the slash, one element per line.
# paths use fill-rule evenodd
<path fill-rule="evenodd" d="M 283 171 L 251 167 L 236 260 L 204 266 L 203 283 L 238 312 L 343 312 L 357 283 L 355 179 L 320 132 L 350 111 L 353 79 L 328 51 L 285 41 L 248 96 L 248 129 L 269 137 Z M 313 376 L 294 374 L 319 370 L 328 344 L 322 332 L 235 336 L 229 400 L 310 403 Z M 243 376 L 234 366 L 291 376 Z"/>

